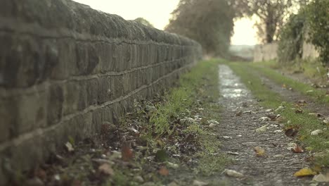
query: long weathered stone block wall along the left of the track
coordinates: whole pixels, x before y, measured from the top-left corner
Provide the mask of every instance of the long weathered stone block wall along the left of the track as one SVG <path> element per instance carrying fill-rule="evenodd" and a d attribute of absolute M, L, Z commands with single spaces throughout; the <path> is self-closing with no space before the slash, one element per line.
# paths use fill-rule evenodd
<path fill-rule="evenodd" d="M 115 123 L 202 55 L 191 39 L 67 0 L 0 1 L 0 41 L 0 185 Z"/>

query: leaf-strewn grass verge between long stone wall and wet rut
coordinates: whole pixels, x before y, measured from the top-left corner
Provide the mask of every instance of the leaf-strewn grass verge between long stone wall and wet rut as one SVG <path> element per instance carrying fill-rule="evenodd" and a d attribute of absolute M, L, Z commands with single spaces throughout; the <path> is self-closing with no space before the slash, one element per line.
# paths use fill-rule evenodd
<path fill-rule="evenodd" d="M 229 162 L 209 128 L 219 121 L 218 61 L 201 61 L 164 96 L 136 101 L 116 125 L 75 144 L 74 151 L 13 180 L 45 185 L 209 185 Z M 216 123 L 216 122 L 215 122 Z M 25 179 L 25 180 L 24 180 Z"/>

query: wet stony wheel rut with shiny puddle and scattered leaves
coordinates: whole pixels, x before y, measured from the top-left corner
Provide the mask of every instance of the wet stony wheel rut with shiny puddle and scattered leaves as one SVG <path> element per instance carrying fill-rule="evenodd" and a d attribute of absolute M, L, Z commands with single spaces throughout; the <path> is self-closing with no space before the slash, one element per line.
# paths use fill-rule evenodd
<path fill-rule="evenodd" d="M 229 178 L 232 185 L 309 185 L 310 178 L 295 178 L 293 173 L 307 167 L 304 161 L 307 154 L 294 153 L 287 149 L 292 139 L 280 131 L 274 121 L 262 121 L 271 112 L 266 112 L 257 104 L 250 91 L 239 77 L 225 65 L 219 66 L 219 90 L 222 97 L 219 104 L 224 107 L 219 128 L 222 151 L 234 161 L 228 169 L 238 171 L 244 178 Z M 238 114 L 237 113 L 241 113 Z M 255 129 L 268 124 L 263 133 Z M 265 156 L 257 156 L 254 147 L 262 147 Z"/>

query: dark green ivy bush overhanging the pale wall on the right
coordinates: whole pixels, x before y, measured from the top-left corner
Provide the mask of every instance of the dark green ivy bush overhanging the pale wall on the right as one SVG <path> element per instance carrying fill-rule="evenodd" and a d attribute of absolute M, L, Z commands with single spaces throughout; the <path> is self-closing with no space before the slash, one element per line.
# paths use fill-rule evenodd
<path fill-rule="evenodd" d="M 292 14 L 282 30 L 278 42 L 278 62 L 290 63 L 302 58 L 305 13 Z"/>

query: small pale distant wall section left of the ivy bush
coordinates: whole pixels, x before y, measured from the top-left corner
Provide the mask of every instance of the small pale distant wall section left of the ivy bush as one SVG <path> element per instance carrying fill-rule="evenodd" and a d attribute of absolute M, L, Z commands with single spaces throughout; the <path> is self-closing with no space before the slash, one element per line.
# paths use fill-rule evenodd
<path fill-rule="evenodd" d="M 271 59 L 276 59 L 278 56 L 276 51 L 278 50 L 277 43 L 271 44 L 257 44 L 254 46 L 254 61 L 269 61 Z"/>

